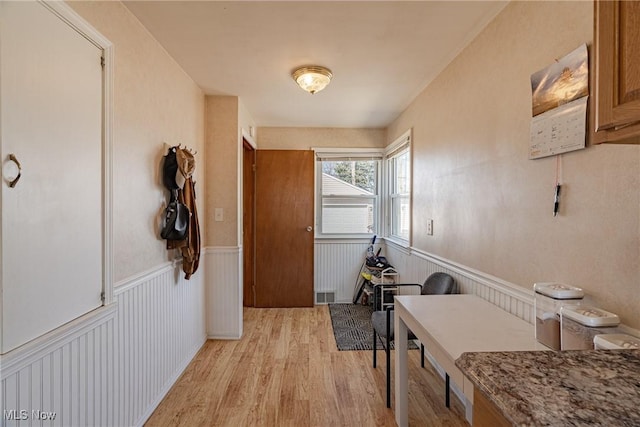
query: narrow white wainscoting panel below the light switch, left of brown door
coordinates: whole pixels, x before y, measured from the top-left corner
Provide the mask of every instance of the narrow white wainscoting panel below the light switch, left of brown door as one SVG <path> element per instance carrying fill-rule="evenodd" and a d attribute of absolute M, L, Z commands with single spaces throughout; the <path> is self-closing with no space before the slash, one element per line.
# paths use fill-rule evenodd
<path fill-rule="evenodd" d="M 207 336 L 212 339 L 240 339 L 243 311 L 242 249 L 206 248 L 204 264 Z"/>

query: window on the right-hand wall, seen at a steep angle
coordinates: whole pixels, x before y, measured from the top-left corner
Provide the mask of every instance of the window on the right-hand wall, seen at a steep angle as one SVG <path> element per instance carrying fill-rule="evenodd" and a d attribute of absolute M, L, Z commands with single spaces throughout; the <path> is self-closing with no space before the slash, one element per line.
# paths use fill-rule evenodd
<path fill-rule="evenodd" d="M 408 244 L 411 232 L 411 133 L 387 150 L 388 235 Z"/>

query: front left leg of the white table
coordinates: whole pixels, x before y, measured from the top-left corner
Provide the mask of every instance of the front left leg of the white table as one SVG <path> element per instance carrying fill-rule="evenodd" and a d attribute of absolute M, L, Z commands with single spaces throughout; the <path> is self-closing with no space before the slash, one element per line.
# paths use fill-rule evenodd
<path fill-rule="evenodd" d="M 407 338 L 409 331 L 407 325 L 398 315 L 398 310 L 394 310 L 395 334 L 394 344 L 396 347 L 396 423 L 398 427 L 409 425 L 409 376 L 408 376 L 408 349 Z"/>

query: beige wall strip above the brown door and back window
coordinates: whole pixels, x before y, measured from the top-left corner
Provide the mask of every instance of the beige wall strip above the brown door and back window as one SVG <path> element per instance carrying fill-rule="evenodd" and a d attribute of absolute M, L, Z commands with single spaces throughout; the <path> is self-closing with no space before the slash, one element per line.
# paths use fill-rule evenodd
<path fill-rule="evenodd" d="M 261 150 L 382 148 L 386 140 L 384 129 L 261 127 L 258 131 L 258 148 Z"/>

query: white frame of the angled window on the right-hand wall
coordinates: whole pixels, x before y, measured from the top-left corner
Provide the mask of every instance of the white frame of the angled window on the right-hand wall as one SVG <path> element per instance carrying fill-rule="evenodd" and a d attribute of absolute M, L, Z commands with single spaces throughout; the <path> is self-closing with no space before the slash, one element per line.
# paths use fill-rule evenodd
<path fill-rule="evenodd" d="M 396 168 L 392 166 L 392 163 L 399 158 L 401 155 L 408 154 L 409 155 L 409 164 L 408 164 L 408 181 L 409 181 L 409 192 L 405 193 L 393 193 L 394 185 L 396 181 Z M 389 146 L 385 149 L 384 152 L 384 211 L 385 211 L 385 239 L 390 240 L 396 243 L 399 246 L 404 248 L 409 248 L 411 246 L 411 230 L 412 230 L 412 219 L 413 219 L 413 151 L 412 151 L 412 130 L 409 129 L 404 132 L 400 137 L 398 137 L 395 141 L 393 141 Z M 409 213 L 408 213 L 408 236 L 404 238 L 398 234 L 393 233 L 393 202 L 398 199 L 407 199 L 409 205 Z"/>

